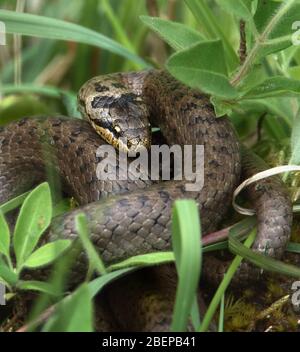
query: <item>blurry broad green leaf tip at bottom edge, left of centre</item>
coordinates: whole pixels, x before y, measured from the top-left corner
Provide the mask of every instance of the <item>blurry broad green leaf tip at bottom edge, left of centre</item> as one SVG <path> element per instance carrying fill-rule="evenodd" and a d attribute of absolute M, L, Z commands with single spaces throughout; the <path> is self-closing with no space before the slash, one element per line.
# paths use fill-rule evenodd
<path fill-rule="evenodd" d="M 62 300 L 43 327 L 47 332 L 92 332 L 93 305 L 86 283 Z"/>

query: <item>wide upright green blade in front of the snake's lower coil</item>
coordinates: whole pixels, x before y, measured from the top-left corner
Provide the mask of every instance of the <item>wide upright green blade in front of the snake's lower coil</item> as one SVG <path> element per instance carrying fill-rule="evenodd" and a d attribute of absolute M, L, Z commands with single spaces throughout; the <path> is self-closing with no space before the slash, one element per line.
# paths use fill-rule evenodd
<path fill-rule="evenodd" d="M 185 331 L 201 271 L 199 211 L 193 200 L 177 200 L 172 212 L 172 242 L 179 282 L 171 331 Z"/>

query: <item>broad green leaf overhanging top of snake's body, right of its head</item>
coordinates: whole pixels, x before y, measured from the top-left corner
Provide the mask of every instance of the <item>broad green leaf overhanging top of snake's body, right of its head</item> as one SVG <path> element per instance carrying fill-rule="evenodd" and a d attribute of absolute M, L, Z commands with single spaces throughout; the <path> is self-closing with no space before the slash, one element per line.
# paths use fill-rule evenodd
<path fill-rule="evenodd" d="M 228 99 L 238 95 L 227 78 L 220 40 L 202 42 L 175 53 L 166 66 L 173 76 L 192 88 Z"/>

